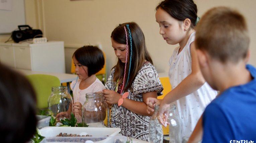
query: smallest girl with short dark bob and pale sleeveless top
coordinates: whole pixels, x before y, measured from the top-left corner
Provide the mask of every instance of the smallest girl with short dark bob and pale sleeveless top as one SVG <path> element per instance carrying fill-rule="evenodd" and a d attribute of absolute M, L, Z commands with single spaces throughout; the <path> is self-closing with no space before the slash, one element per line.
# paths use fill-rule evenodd
<path fill-rule="evenodd" d="M 82 122 L 82 105 L 86 100 L 86 93 L 99 92 L 105 89 L 96 77 L 105 63 L 103 52 L 95 46 L 84 46 L 73 54 L 75 71 L 79 79 L 71 82 L 74 98 L 74 114 L 77 122 Z"/>

